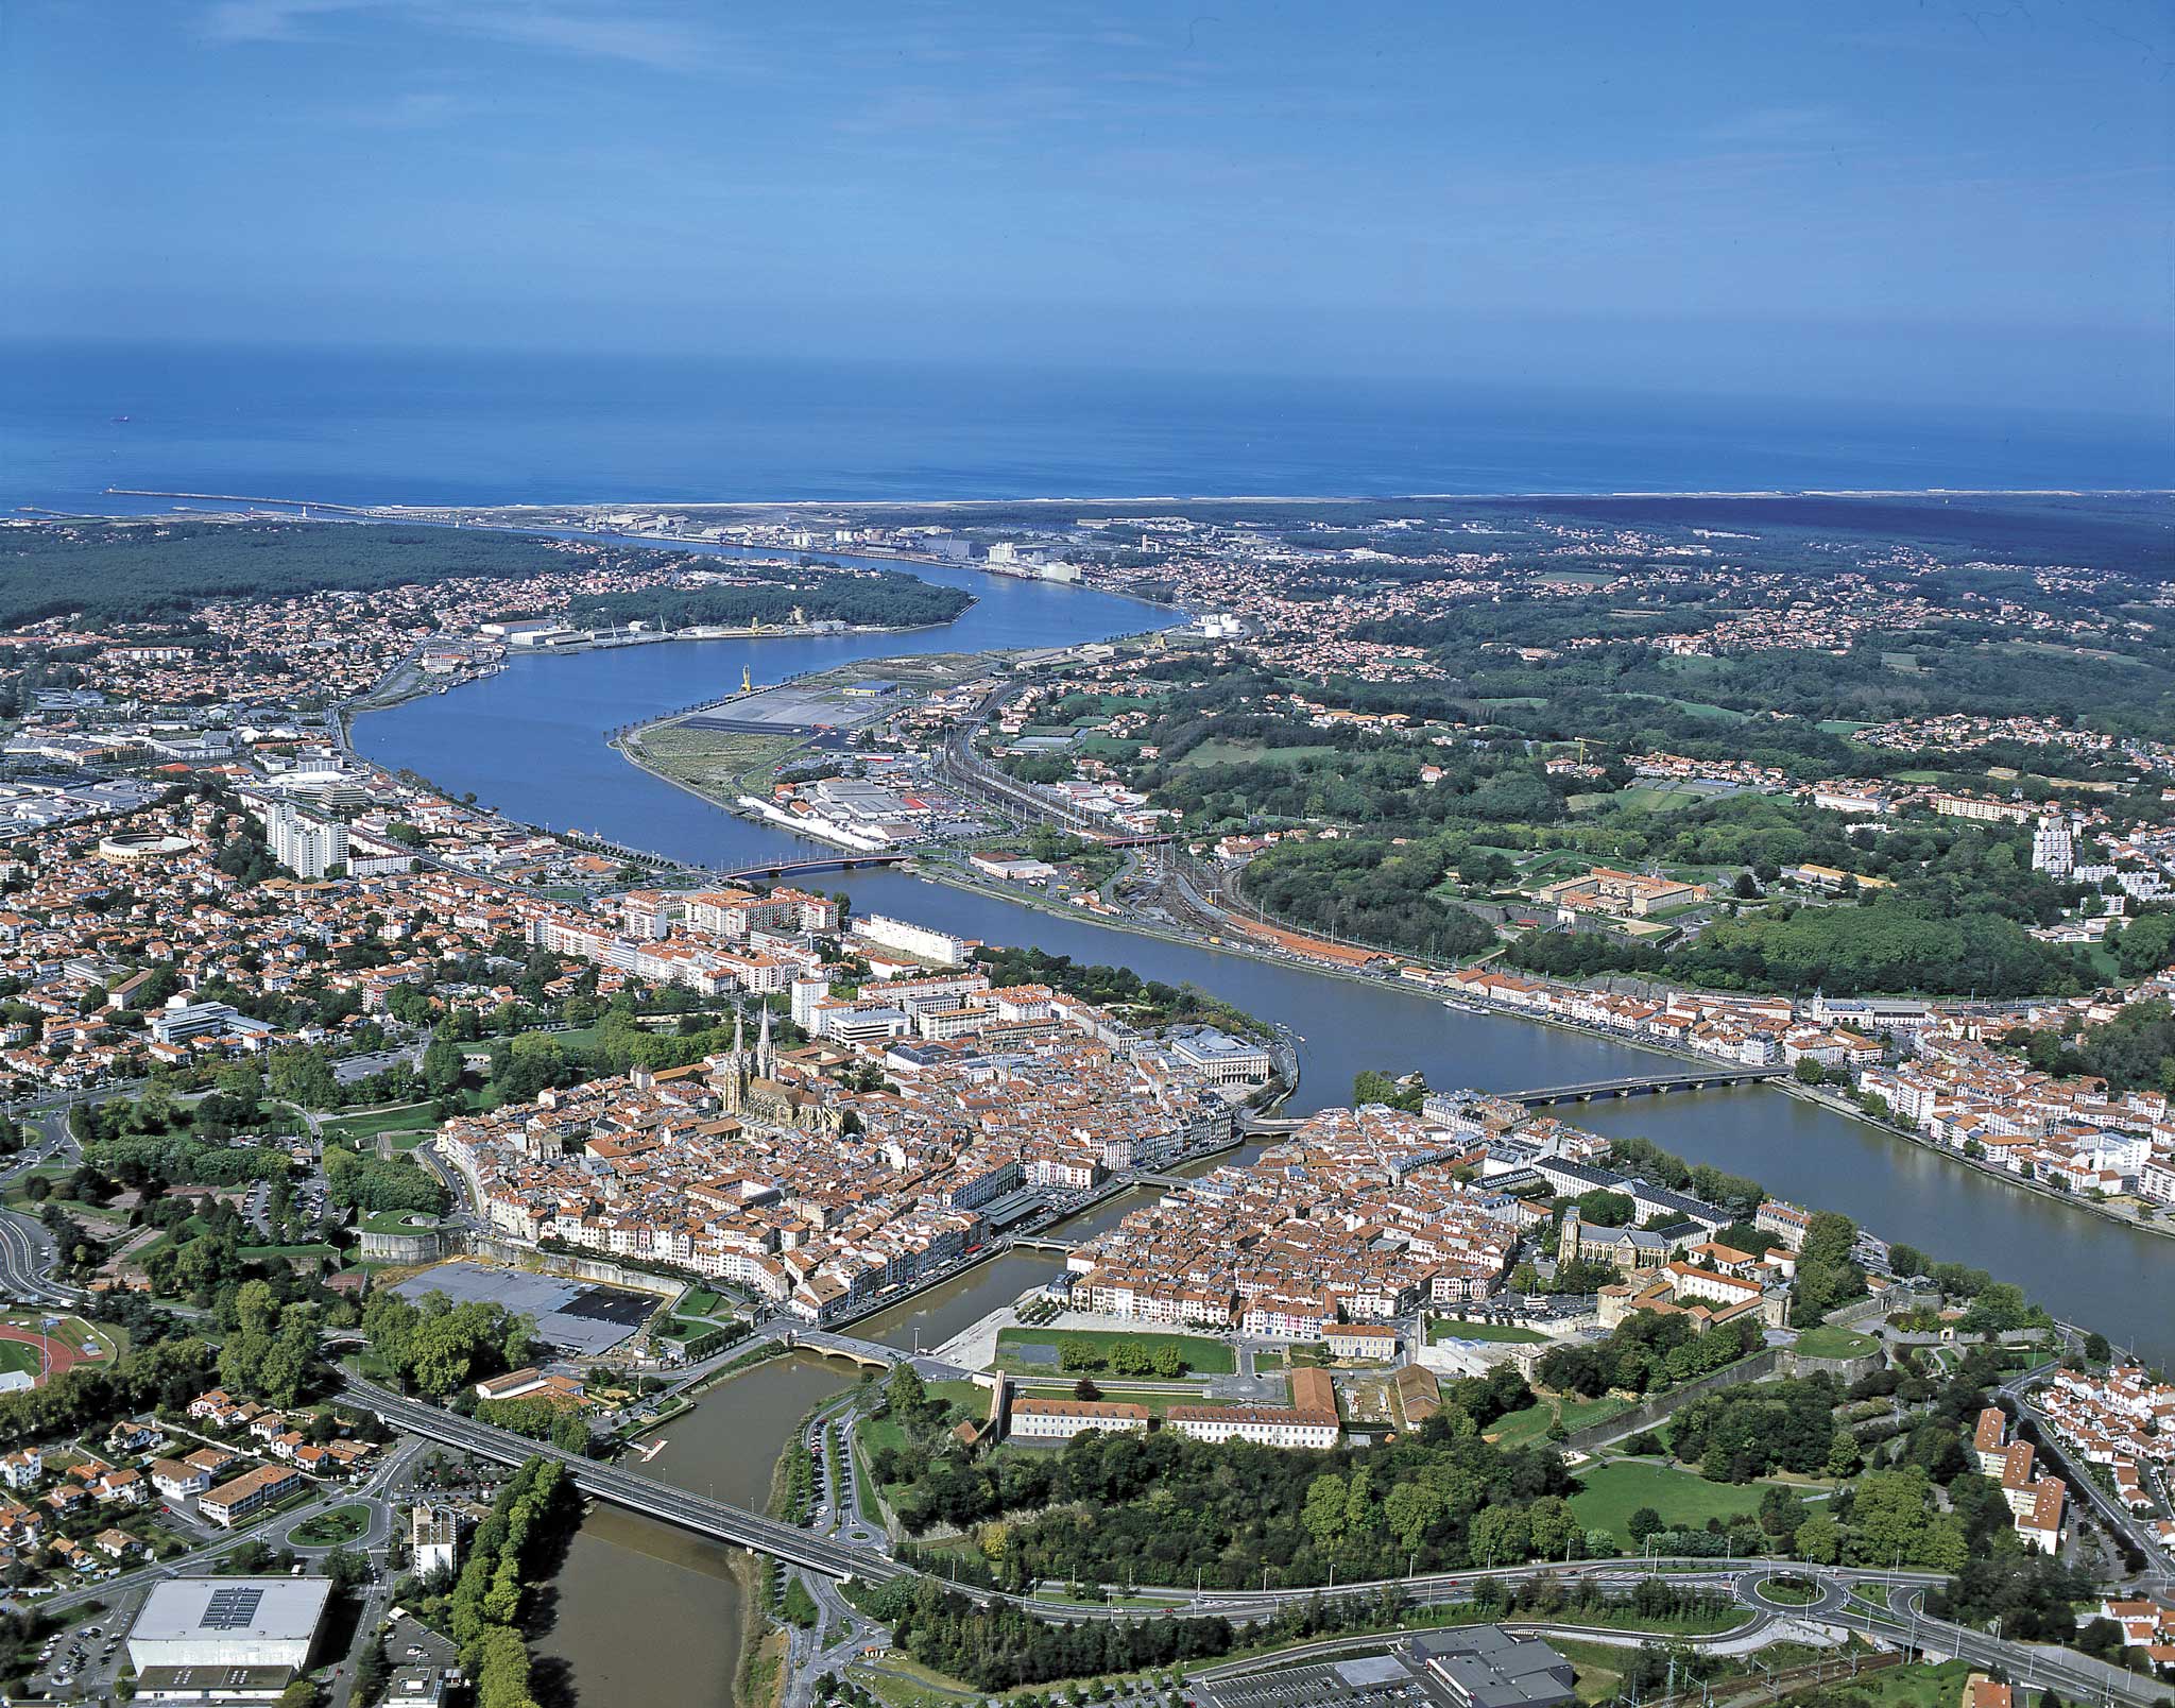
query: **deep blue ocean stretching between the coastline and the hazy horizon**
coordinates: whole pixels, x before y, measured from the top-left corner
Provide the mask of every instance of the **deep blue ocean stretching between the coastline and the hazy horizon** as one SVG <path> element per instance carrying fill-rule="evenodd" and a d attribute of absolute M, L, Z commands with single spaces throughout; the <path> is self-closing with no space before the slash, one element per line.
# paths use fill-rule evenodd
<path fill-rule="evenodd" d="M 0 344 L 0 505 L 2168 487 L 2162 422 L 1172 372 Z"/>

